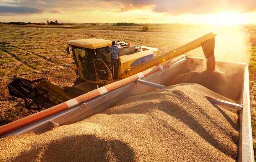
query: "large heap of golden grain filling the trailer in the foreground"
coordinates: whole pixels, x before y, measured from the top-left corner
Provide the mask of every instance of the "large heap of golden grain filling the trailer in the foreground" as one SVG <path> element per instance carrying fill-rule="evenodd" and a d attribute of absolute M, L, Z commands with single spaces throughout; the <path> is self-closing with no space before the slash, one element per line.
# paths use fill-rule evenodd
<path fill-rule="evenodd" d="M 229 100 L 195 83 L 132 96 L 75 124 L 2 138 L 0 161 L 235 162 L 236 111 L 205 96 Z"/>

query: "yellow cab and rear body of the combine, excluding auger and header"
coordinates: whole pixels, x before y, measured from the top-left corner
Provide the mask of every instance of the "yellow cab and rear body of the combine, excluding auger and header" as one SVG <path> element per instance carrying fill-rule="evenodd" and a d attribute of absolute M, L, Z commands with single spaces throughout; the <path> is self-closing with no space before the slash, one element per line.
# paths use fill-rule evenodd
<path fill-rule="evenodd" d="M 158 56 L 157 48 L 117 42 L 121 46 L 119 57 L 112 58 L 109 52 L 111 43 L 110 40 L 95 38 L 67 42 L 67 51 L 75 61 L 77 80 L 74 85 L 85 81 L 101 85 L 113 83 L 122 79 L 124 72 Z"/>

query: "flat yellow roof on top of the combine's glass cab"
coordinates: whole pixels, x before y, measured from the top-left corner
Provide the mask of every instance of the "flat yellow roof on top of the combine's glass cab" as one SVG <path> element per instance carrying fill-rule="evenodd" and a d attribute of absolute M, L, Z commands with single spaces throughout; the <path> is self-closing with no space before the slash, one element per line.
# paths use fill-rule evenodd
<path fill-rule="evenodd" d="M 111 46 L 112 45 L 111 43 L 112 43 L 111 40 L 96 39 L 96 38 L 70 40 L 67 42 L 68 45 L 89 48 L 89 49 L 97 49 L 97 48 Z"/>

